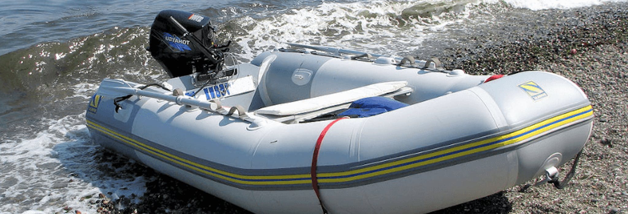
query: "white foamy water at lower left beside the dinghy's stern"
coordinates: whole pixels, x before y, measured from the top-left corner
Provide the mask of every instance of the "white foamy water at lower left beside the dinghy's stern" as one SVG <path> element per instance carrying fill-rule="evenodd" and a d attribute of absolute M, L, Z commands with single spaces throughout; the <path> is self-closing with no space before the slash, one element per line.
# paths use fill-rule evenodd
<path fill-rule="evenodd" d="M 97 207 L 89 203 L 90 198 L 108 192 L 111 199 L 125 196 L 138 202 L 146 191 L 147 178 L 125 171 L 133 165 L 113 168 L 107 161 L 94 160 L 102 149 L 90 141 L 84 114 L 47 123 L 47 130 L 23 137 L 28 140 L 0 144 L 0 185 L 4 190 L 0 192 L 0 213 L 57 213 L 65 206 L 95 213 Z M 122 172 L 112 175 L 114 170 Z"/>

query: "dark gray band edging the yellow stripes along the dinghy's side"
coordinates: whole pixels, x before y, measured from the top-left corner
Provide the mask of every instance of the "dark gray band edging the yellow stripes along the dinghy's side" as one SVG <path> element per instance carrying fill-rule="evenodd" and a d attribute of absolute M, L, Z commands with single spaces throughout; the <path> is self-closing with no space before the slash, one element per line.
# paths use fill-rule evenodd
<path fill-rule="evenodd" d="M 572 110 L 573 111 L 573 110 Z M 569 112 L 569 111 L 566 111 Z M 93 119 L 92 119 L 93 120 Z M 408 175 L 413 175 L 416 173 L 421 173 L 424 171 L 430 171 L 430 170 L 436 170 L 438 168 L 444 168 L 447 166 L 452 166 L 452 165 L 457 165 L 459 163 L 464 163 L 464 162 L 468 162 L 468 161 L 472 161 L 472 160 L 478 160 L 480 158 L 485 158 L 487 156 L 492 156 L 492 155 L 496 155 L 499 153 L 505 153 L 507 151 L 512 151 L 512 150 L 516 150 L 517 148 L 520 148 L 521 146 L 526 146 L 529 145 L 531 143 L 534 143 L 536 141 L 542 140 L 544 138 L 547 138 L 549 136 L 553 136 L 556 135 L 558 133 L 562 133 L 565 130 L 570 130 L 571 128 L 575 128 L 577 127 L 578 124 L 580 123 L 586 123 L 587 121 L 590 121 L 591 119 L 588 120 L 583 120 L 583 121 L 579 121 L 577 123 L 573 123 L 570 126 L 567 126 L 565 128 L 561 128 L 560 130 L 554 130 L 551 133 L 547 133 L 545 135 L 541 135 L 541 136 L 533 136 L 531 137 L 531 139 L 533 140 L 528 140 L 525 143 L 521 143 L 521 144 L 517 144 L 517 145 L 512 145 L 512 146 L 504 146 L 504 148 L 498 149 L 498 150 L 489 150 L 489 151 L 482 151 L 479 153 L 474 153 L 473 155 L 465 155 L 462 157 L 458 157 L 458 158 L 453 158 L 452 160 L 445 160 L 445 161 L 439 161 L 438 163 L 433 163 L 430 165 L 426 165 L 426 166 L 419 166 L 416 168 L 411 168 L 408 170 L 403 170 L 403 171 L 398 171 L 398 172 L 394 172 L 394 173 L 387 173 L 385 175 L 379 175 L 379 176 L 373 176 L 373 177 L 369 177 L 369 178 L 363 178 L 360 180 L 355 180 L 355 181 L 348 181 L 348 182 L 338 182 L 338 183 L 320 183 L 320 187 L 321 188 L 347 188 L 347 187 L 351 187 L 351 186 L 360 186 L 360 185 L 366 185 L 369 183 L 376 183 L 379 181 L 384 181 L 384 180 L 391 180 L 394 178 L 400 178 L 403 176 L 408 176 Z M 99 123 L 99 121 L 97 120 L 93 120 L 95 123 L 102 125 L 102 123 Z M 535 123 L 536 124 L 536 123 Z M 526 126 L 521 126 L 521 127 L 528 127 L 530 125 L 526 125 Z M 105 127 L 105 126 L 103 126 Z M 221 171 L 227 171 L 229 173 L 235 173 L 235 174 L 239 174 L 239 175 L 302 175 L 302 174 L 309 174 L 310 173 L 310 167 L 296 167 L 296 168 L 274 168 L 274 169 L 244 169 L 244 168 L 236 168 L 233 166 L 227 166 L 227 165 L 222 165 L 219 163 L 215 163 L 212 161 L 208 161 L 208 160 L 204 160 L 201 158 L 197 158 L 195 156 L 191 156 L 191 155 L 187 155 L 185 153 L 181 153 L 180 151 L 176 151 L 176 150 L 172 150 L 170 148 L 167 148 L 165 146 L 161 146 L 158 145 L 157 143 L 153 143 L 151 141 L 145 140 L 143 138 L 139 138 L 138 136 L 135 136 L 131 133 L 128 133 L 126 131 L 123 130 L 119 130 L 117 128 L 112 128 L 112 127 L 106 127 L 112 131 L 115 131 L 117 133 L 119 133 L 120 135 L 124 135 L 127 136 L 129 138 L 133 138 L 136 141 L 139 141 L 141 143 L 144 143 L 148 146 L 151 146 L 153 148 L 156 148 L 158 150 L 161 151 L 165 151 L 166 153 L 170 153 L 171 155 L 175 155 L 178 156 L 180 158 L 183 158 L 185 160 L 189 160 L 195 163 L 198 163 L 200 165 L 204 165 L 204 166 L 209 166 L 212 168 L 216 168 L 217 170 L 221 170 Z M 92 128 L 90 128 L 92 129 Z M 516 131 L 518 129 L 515 129 L 514 131 Z M 104 131 L 104 130 L 103 130 Z M 375 159 L 371 159 L 371 160 L 365 160 L 365 161 L 359 161 L 356 163 L 349 163 L 346 165 L 338 165 L 338 166 L 318 166 L 318 173 L 337 173 L 337 172 L 342 172 L 342 171 L 350 171 L 350 170 L 357 170 L 360 168 L 365 168 L 365 167 L 369 167 L 369 166 L 373 166 L 373 165 L 381 165 L 384 163 L 389 163 L 392 161 L 398 161 L 398 160 L 404 160 L 407 158 L 412 158 L 415 156 L 419 156 L 419 155 L 425 155 L 428 153 L 433 153 L 436 151 L 441 151 L 441 150 L 446 150 L 448 148 L 452 148 L 453 146 L 460 146 L 460 145 L 465 145 L 468 143 L 473 143 L 473 142 L 477 142 L 477 141 L 481 141 L 481 140 L 486 140 L 489 138 L 494 138 L 495 136 L 501 136 L 501 135 L 505 135 L 507 133 L 512 133 L 512 129 L 508 129 L 508 131 L 499 131 L 499 132 L 495 132 L 493 134 L 489 135 L 489 132 L 486 133 L 480 133 L 477 135 L 472 135 L 472 136 L 467 136 L 465 138 L 460 138 L 457 140 L 450 140 L 450 141 L 445 141 L 443 143 L 437 143 L 436 145 L 433 146 L 429 146 L 429 148 L 418 148 L 416 150 L 411 150 L 411 151 L 406 151 L 403 153 L 398 153 L 395 155 L 387 155 L 387 156 L 383 156 L 381 158 L 375 158 Z M 106 135 L 104 135 L 106 136 Z M 482 138 L 479 138 L 479 136 L 484 136 Z M 116 139 L 111 138 L 110 136 L 106 136 L 107 138 L 110 138 L 114 141 L 119 142 Z M 478 140 L 479 138 L 479 140 Z M 458 143 L 456 143 L 458 142 Z M 122 143 L 120 142 L 122 145 L 126 146 L 127 148 L 131 148 L 133 150 L 137 150 L 137 151 L 141 151 L 142 153 L 152 156 L 153 158 L 156 158 L 158 160 L 161 160 L 165 163 L 171 163 L 170 160 L 166 160 L 164 158 L 160 158 L 159 156 L 155 156 L 151 153 L 148 153 L 146 151 L 143 150 L 138 150 L 136 149 L 134 146 L 128 145 L 127 143 Z M 438 145 L 441 146 L 441 148 L 438 148 Z M 443 146 L 445 145 L 445 146 Z M 438 148 L 438 150 L 433 150 L 430 151 L 433 148 Z M 204 178 L 208 178 L 210 180 L 214 180 L 214 181 L 218 181 L 220 183 L 224 183 L 226 185 L 230 185 L 230 186 L 234 186 L 236 188 L 241 188 L 241 189 L 246 189 L 246 190 L 303 190 L 303 189 L 310 189 L 311 185 L 309 183 L 306 184 L 300 184 L 300 185 L 244 185 L 241 183 L 234 183 L 232 181 L 227 181 L 227 180 L 223 180 L 220 178 L 215 178 L 214 176 L 210 176 L 207 175 L 205 173 L 201 173 L 197 170 L 192 170 L 190 168 L 187 168 L 185 166 L 181 166 L 178 164 L 171 164 L 173 166 L 176 166 L 178 168 L 181 168 L 183 170 L 186 171 L 190 171 L 192 173 L 194 173 L 195 175 L 199 175 L 199 176 L 203 176 Z"/>

